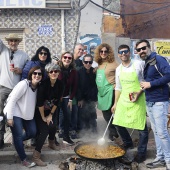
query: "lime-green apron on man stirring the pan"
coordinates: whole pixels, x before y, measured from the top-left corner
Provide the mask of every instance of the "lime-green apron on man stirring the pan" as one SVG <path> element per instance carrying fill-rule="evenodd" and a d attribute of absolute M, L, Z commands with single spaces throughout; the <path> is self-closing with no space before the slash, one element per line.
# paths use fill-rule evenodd
<path fill-rule="evenodd" d="M 133 72 L 123 72 L 121 66 L 120 83 L 122 91 L 116 106 L 113 124 L 143 130 L 146 123 L 145 94 L 136 102 L 131 102 L 129 93 L 140 91 L 140 83 L 133 65 Z"/>

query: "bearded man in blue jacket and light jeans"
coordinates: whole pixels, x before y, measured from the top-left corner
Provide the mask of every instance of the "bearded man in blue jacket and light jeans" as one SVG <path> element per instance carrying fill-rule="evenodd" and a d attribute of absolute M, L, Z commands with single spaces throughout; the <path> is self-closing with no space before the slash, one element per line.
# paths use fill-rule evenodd
<path fill-rule="evenodd" d="M 147 114 L 156 143 L 156 158 L 146 166 L 157 168 L 166 165 L 170 170 L 170 135 L 167 129 L 170 66 L 164 57 L 151 51 L 147 40 L 139 40 L 136 51 L 145 61 L 145 82 L 141 82 L 141 88 L 145 90 Z"/>

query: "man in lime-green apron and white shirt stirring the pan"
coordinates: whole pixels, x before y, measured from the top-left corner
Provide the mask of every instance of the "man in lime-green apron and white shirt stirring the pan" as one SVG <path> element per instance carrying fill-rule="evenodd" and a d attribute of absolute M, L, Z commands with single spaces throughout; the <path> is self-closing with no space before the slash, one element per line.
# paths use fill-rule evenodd
<path fill-rule="evenodd" d="M 140 88 L 143 80 L 144 62 L 131 61 L 130 48 L 120 45 L 118 56 L 122 63 L 116 69 L 115 103 L 112 107 L 113 124 L 122 138 L 124 148 L 133 147 L 132 138 L 126 128 L 139 131 L 139 145 L 135 161 L 141 163 L 146 160 L 148 143 L 148 129 L 146 125 L 145 94 Z"/>

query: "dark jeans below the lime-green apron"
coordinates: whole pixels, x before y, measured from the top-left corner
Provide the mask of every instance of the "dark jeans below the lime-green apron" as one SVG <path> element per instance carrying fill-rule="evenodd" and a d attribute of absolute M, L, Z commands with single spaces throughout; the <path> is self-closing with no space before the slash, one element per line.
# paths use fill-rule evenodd
<path fill-rule="evenodd" d="M 122 141 L 125 145 L 132 146 L 132 138 L 125 127 L 116 126 Z M 146 156 L 147 144 L 148 144 L 148 128 L 145 125 L 144 130 L 138 130 L 139 132 L 139 144 L 138 144 L 138 155 Z"/>

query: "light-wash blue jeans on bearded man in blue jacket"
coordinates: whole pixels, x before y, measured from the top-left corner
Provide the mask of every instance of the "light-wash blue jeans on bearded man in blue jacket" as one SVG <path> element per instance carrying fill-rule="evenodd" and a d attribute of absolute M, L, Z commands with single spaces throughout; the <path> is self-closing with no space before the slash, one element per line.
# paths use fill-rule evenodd
<path fill-rule="evenodd" d="M 156 158 L 170 163 L 170 135 L 167 129 L 168 101 L 146 102 L 156 143 Z"/>

